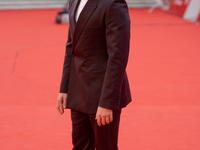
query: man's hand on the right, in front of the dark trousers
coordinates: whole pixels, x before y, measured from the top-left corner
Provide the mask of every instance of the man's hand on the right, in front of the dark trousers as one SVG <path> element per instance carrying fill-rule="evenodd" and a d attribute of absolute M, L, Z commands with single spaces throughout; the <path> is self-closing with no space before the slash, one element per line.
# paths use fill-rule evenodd
<path fill-rule="evenodd" d="M 113 110 L 112 109 L 107 109 L 107 108 L 102 108 L 98 107 L 97 108 L 97 113 L 96 113 L 96 118 L 98 126 L 106 125 L 109 124 L 110 122 L 113 121 Z"/>

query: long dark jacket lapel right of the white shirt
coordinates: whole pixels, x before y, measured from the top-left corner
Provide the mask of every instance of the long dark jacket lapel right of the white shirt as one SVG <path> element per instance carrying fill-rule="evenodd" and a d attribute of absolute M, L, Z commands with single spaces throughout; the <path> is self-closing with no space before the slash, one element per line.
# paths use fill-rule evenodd
<path fill-rule="evenodd" d="M 99 0 L 88 0 L 85 7 L 83 8 L 82 12 L 80 13 L 79 19 L 75 25 L 74 34 L 73 34 L 73 43 L 72 43 L 72 50 L 77 43 L 78 38 L 80 37 L 83 28 L 85 27 L 88 19 L 94 12 L 97 7 L 97 3 Z"/>

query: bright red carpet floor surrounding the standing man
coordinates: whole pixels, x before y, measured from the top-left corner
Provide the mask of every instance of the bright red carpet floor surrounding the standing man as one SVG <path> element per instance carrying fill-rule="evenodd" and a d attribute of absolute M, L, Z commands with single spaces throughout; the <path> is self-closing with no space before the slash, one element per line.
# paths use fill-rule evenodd
<path fill-rule="evenodd" d="M 0 11 L 0 150 L 70 150 L 69 110 L 55 108 L 68 25 L 58 10 Z M 200 26 L 130 9 L 120 150 L 200 150 Z"/>

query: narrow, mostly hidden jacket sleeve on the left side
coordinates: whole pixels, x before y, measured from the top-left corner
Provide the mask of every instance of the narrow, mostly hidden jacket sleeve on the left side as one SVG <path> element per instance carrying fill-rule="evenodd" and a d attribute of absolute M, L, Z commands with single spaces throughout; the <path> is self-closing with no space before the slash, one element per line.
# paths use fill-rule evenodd
<path fill-rule="evenodd" d="M 61 80 L 61 84 L 60 84 L 60 93 L 68 92 L 71 58 L 72 58 L 72 41 L 71 41 L 71 34 L 70 34 L 70 30 L 69 30 L 68 31 L 68 40 L 67 40 L 67 44 L 66 44 L 64 64 L 63 64 L 62 80 Z"/>

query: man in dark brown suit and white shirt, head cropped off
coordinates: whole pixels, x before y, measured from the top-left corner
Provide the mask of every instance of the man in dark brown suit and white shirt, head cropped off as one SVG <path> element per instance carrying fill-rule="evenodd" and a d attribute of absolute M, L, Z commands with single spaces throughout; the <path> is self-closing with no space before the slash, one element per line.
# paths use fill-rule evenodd
<path fill-rule="evenodd" d="M 71 109 L 73 150 L 117 150 L 121 108 L 131 101 L 124 0 L 71 0 L 57 110 Z"/>

